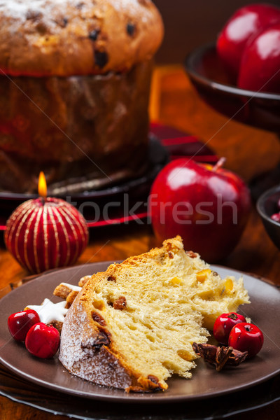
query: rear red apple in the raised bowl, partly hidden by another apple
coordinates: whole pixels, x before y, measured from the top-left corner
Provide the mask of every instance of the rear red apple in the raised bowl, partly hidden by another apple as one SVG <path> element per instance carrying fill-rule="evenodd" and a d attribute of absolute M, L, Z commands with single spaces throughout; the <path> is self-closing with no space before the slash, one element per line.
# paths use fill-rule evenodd
<path fill-rule="evenodd" d="M 223 27 L 217 40 L 217 52 L 230 73 L 237 77 L 241 56 L 251 36 L 280 22 L 280 8 L 255 3 L 239 8 Z"/>

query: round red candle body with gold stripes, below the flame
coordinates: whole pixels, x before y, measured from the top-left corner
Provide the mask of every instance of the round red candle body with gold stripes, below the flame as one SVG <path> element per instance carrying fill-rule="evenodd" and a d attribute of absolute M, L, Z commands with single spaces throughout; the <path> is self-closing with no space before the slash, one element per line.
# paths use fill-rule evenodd
<path fill-rule="evenodd" d="M 6 224 L 8 251 L 32 273 L 72 265 L 85 250 L 85 219 L 59 198 L 36 198 L 20 204 Z"/>

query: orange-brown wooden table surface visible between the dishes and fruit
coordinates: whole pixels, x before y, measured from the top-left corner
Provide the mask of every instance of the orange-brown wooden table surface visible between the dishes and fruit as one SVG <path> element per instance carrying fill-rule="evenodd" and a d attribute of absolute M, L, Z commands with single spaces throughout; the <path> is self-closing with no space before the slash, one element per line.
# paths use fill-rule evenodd
<path fill-rule="evenodd" d="M 151 92 L 151 118 L 172 125 L 207 142 L 218 155 L 227 158 L 226 167 L 251 181 L 272 169 L 280 160 L 280 144 L 276 135 L 246 127 L 212 111 L 197 96 L 181 66 L 155 69 Z M 124 225 L 92 231 L 90 244 L 79 264 L 102 260 L 122 260 L 143 253 L 154 246 L 151 226 Z M 27 275 L 13 257 L 0 248 L 0 289 Z M 251 212 L 244 235 L 237 248 L 223 260 L 223 265 L 251 272 L 280 285 L 280 252 L 267 236 L 260 217 Z M 2 320 L 5 322 L 5 320 Z M 246 392 L 246 391 L 244 391 Z M 240 414 L 238 419 L 279 419 L 280 402 L 269 407 Z M 66 419 L 0 397 L 1 419 Z M 235 417 L 232 417 L 235 418 Z"/>

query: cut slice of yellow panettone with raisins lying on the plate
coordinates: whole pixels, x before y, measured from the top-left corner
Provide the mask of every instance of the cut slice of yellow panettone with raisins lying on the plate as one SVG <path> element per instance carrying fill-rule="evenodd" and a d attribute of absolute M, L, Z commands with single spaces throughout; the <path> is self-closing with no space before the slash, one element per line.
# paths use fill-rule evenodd
<path fill-rule="evenodd" d="M 172 374 L 191 377 L 204 324 L 248 302 L 242 280 L 221 279 L 181 237 L 168 239 L 85 283 L 66 314 L 59 360 L 96 384 L 165 390 Z"/>

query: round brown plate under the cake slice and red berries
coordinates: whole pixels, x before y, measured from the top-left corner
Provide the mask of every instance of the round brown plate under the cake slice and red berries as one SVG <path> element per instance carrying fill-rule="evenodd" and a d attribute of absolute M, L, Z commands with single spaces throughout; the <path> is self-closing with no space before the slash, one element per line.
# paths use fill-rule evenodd
<path fill-rule="evenodd" d="M 81 276 L 106 269 L 109 262 L 97 262 L 66 269 L 59 269 L 29 281 L 13 290 L 0 300 L 0 362 L 15 374 L 55 391 L 97 400 L 112 402 L 174 402 L 195 401 L 203 398 L 214 398 L 241 389 L 260 384 L 280 372 L 280 335 L 277 327 L 280 318 L 280 291 L 274 286 L 225 267 L 213 268 L 221 276 L 244 276 L 244 283 L 251 296 L 251 304 L 241 308 L 241 313 L 251 317 L 265 335 L 265 344 L 259 355 L 239 367 L 216 372 L 203 360 L 197 361 L 190 380 L 172 377 L 165 393 L 127 394 L 124 391 L 104 386 L 97 386 L 78 377 L 73 377 L 59 363 L 57 356 L 51 360 L 34 358 L 23 344 L 10 338 L 6 319 L 9 314 L 23 309 L 27 304 L 41 304 L 43 298 L 54 301 L 52 290 L 64 281 L 77 284 Z"/>

